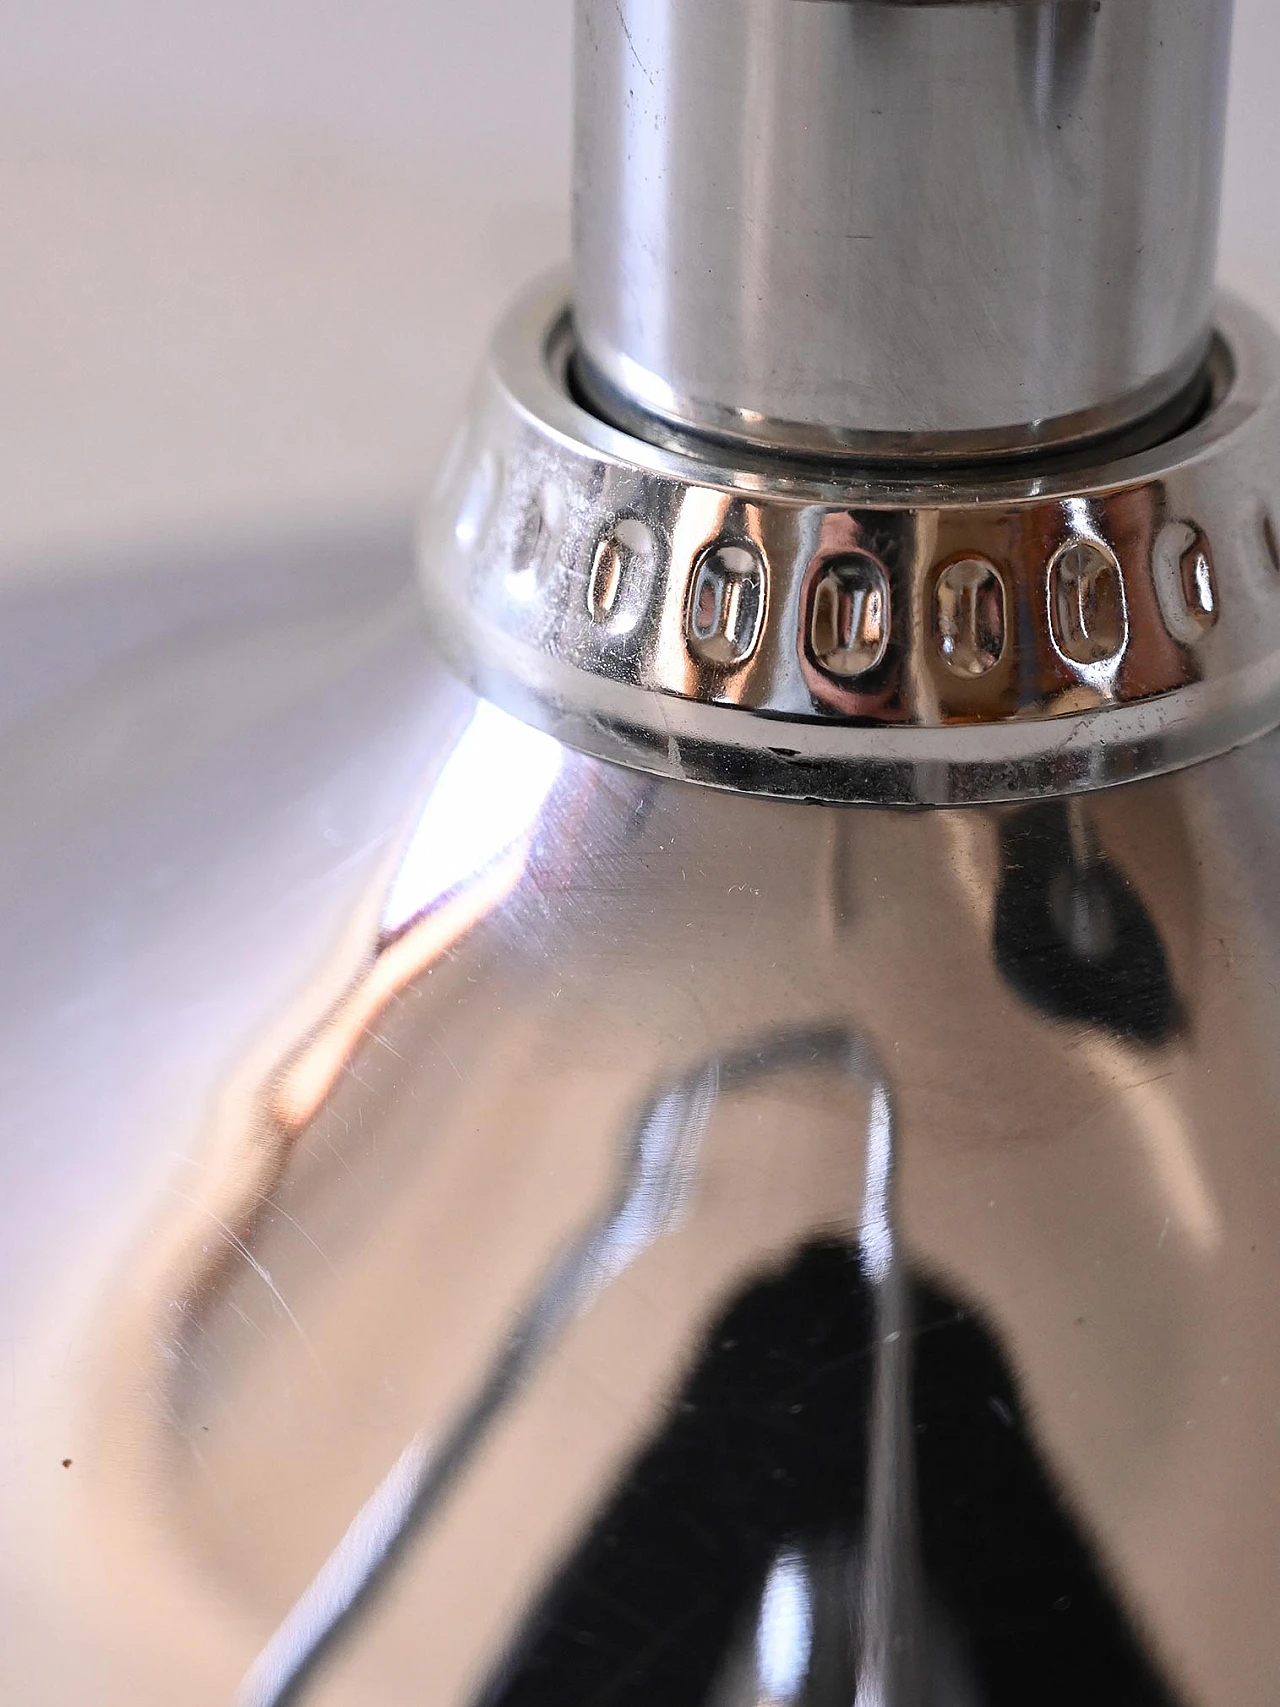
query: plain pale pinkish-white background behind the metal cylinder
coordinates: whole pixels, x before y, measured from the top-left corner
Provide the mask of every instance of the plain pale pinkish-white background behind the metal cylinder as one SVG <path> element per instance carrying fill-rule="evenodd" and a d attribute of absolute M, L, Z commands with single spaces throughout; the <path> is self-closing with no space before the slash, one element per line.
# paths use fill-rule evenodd
<path fill-rule="evenodd" d="M 696 0 L 689 0 L 696 3 Z M 570 0 L 0 0 L 0 562 L 416 490 L 567 253 Z M 1280 3 L 1224 277 L 1280 318 Z"/>

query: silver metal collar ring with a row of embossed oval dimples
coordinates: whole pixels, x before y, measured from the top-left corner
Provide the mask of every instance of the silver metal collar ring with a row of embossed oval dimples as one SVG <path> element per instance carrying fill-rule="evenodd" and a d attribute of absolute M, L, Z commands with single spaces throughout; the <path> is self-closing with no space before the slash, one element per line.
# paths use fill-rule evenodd
<path fill-rule="evenodd" d="M 485 696 L 642 770 L 879 804 L 1096 789 L 1280 724 L 1280 345 L 1239 302 L 1176 439 L 925 481 L 601 422 L 565 300 L 500 328 L 423 519 L 432 632 Z"/>

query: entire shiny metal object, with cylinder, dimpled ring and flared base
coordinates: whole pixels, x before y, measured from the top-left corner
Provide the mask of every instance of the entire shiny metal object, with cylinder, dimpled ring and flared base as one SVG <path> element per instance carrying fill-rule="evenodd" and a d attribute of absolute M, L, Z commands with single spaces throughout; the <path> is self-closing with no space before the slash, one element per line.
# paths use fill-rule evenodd
<path fill-rule="evenodd" d="M 0 589 L 7 1702 L 1271 1707 L 1225 14 L 584 5 L 584 362 L 515 311 L 416 539 Z M 1056 451 L 628 435 L 635 326 L 684 427 Z"/>

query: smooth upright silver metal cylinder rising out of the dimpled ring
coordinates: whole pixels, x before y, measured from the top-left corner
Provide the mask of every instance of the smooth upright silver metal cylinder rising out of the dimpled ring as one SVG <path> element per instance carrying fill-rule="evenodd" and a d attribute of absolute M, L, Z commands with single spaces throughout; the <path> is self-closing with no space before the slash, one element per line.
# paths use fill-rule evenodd
<path fill-rule="evenodd" d="M 1229 34 L 1231 0 L 577 0 L 580 382 L 858 457 L 1176 410 Z"/>

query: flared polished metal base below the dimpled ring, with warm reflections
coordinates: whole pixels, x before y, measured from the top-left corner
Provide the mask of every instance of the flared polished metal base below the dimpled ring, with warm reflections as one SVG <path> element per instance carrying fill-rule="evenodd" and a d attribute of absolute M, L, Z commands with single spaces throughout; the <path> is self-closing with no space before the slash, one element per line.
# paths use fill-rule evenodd
<path fill-rule="evenodd" d="M 1270 1707 L 1280 743 L 901 813 L 7 589 L 5 1698 Z"/>

